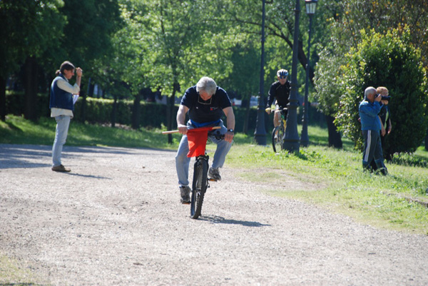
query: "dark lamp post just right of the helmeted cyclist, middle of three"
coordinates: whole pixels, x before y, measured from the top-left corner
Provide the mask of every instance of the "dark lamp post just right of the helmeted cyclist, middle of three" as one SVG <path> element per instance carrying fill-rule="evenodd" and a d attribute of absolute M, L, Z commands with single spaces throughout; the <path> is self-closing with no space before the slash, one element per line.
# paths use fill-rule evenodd
<path fill-rule="evenodd" d="M 297 48 L 299 44 L 299 16 L 300 0 L 296 0 L 295 6 L 295 30 L 292 42 L 292 65 L 291 65 L 291 91 L 289 103 L 287 104 L 287 128 L 285 129 L 282 149 L 289 152 L 299 152 L 300 142 L 297 133 Z"/>

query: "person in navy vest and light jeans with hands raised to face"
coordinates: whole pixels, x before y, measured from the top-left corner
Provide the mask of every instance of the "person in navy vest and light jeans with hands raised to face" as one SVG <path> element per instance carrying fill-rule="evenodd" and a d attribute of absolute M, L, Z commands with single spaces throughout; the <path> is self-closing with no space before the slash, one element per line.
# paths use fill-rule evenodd
<path fill-rule="evenodd" d="M 68 80 L 74 76 L 75 70 L 76 83 L 72 86 Z M 61 163 L 61 152 L 66 143 L 70 120 L 73 118 L 74 103 L 80 91 L 81 78 L 81 68 L 75 68 L 73 63 L 64 61 L 56 71 L 56 78 L 51 84 L 49 108 L 51 108 L 51 117 L 56 120 L 55 140 L 52 146 L 52 170 L 56 172 L 70 172 L 70 168 L 64 167 Z"/>

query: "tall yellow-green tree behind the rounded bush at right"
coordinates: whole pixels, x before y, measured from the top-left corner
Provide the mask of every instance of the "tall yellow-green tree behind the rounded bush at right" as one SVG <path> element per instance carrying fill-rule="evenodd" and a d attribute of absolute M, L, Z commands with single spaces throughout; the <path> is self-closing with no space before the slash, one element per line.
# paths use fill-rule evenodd
<path fill-rule="evenodd" d="M 317 79 L 315 79 L 321 111 L 326 114 L 330 111 L 337 113 L 339 97 L 345 92 L 344 81 L 342 81 L 343 71 L 340 70 L 340 66 L 346 65 L 345 53 L 352 47 L 356 48 L 362 41 L 360 33 L 362 29 L 374 29 L 380 34 L 397 29 L 395 34 L 401 37 L 405 31 L 404 27 L 407 26 L 407 29 L 412 31 L 409 41 L 420 48 L 422 63 L 427 67 L 427 1 L 344 0 L 335 2 L 337 3 L 334 5 L 329 3 L 320 6 L 320 9 L 317 8 L 317 12 L 331 9 L 330 18 L 329 14 L 325 17 L 325 23 L 328 24 L 326 31 L 329 32 L 320 37 L 323 48 L 317 66 Z M 331 78 L 331 74 L 335 74 L 335 77 Z"/>

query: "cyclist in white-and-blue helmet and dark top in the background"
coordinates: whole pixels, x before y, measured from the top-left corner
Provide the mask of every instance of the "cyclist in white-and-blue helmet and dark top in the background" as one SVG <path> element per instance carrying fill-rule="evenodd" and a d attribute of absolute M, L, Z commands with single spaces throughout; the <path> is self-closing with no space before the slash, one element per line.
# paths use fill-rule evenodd
<path fill-rule="evenodd" d="M 270 114 L 270 106 L 275 101 L 275 114 L 273 116 L 273 126 L 280 125 L 280 114 L 283 108 L 287 107 L 288 98 L 290 97 L 291 84 L 287 81 L 288 71 L 280 69 L 277 71 L 278 80 L 272 83 L 269 89 L 269 97 L 267 98 L 266 112 Z M 287 110 L 283 111 L 285 118 L 287 118 Z"/>

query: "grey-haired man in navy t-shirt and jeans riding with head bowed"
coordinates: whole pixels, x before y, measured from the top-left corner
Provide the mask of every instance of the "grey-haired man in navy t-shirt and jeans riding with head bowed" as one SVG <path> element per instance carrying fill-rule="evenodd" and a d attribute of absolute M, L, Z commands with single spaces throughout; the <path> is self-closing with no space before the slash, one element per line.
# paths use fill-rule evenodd
<path fill-rule="evenodd" d="M 188 113 L 189 121 L 185 124 L 185 114 Z M 227 118 L 227 128 L 223 125 L 221 117 L 225 114 Z M 204 76 L 200 78 L 195 86 L 188 88 L 181 99 L 180 107 L 177 112 L 178 131 L 183 134 L 177 155 L 175 155 L 175 169 L 178 175 L 178 184 L 180 188 L 181 203 L 190 203 L 190 188 L 188 181 L 190 158 L 187 154 L 189 129 L 220 126 L 218 131 L 224 134 L 224 140 L 218 140 L 210 136 L 211 141 L 217 144 L 214 153 L 213 165 L 208 171 L 208 176 L 213 180 L 221 180 L 218 168 L 223 167 L 226 155 L 232 146 L 235 115 L 232 109 L 232 103 L 228 93 L 223 88 L 217 86 L 213 78 Z"/>

